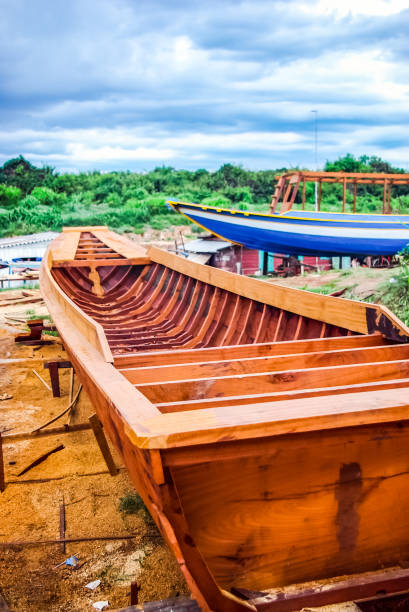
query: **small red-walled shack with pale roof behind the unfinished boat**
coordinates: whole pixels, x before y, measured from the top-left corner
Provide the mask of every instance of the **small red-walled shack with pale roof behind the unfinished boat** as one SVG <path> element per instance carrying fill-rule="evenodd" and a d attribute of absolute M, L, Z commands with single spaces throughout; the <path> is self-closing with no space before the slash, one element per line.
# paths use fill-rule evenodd
<path fill-rule="evenodd" d="M 247 249 L 238 244 L 212 236 L 192 240 L 184 246 L 191 261 L 238 274 L 258 274 L 259 256 L 256 249 Z"/>

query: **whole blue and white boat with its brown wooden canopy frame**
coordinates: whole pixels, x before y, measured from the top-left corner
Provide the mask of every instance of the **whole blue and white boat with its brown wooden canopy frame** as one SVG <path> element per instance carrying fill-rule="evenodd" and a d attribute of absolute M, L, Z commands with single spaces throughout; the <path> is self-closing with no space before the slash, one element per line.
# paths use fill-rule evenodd
<path fill-rule="evenodd" d="M 395 255 L 409 244 L 409 215 L 390 214 L 392 187 L 408 188 L 409 174 L 298 170 L 277 176 L 276 179 L 269 214 L 178 200 L 168 200 L 167 204 L 224 240 L 272 253 L 388 256 Z M 305 210 L 305 186 L 308 182 L 316 185 L 315 211 Z M 322 187 L 326 183 L 342 183 L 342 212 L 320 210 Z M 352 214 L 345 212 L 348 184 L 351 188 L 349 193 L 353 194 Z M 372 188 L 378 185 L 383 190 L 384 214 L 355 212 L 358 185 L 371 185 Z M 297 197 L 302 210 L 293 210 Z"/>

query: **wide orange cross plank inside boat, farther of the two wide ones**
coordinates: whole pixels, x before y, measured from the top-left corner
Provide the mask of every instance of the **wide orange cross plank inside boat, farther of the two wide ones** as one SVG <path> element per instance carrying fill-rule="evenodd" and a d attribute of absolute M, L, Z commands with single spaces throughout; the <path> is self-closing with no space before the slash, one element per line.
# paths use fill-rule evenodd
<path fill-rule="evenodd" d="M 126 368 L 119 371 L 134 384 L 168 382 L 195 378 L 213 378 L 251 374 L 257 372 L 274 372 L 293 368 L 310 369 L 354 363 L 375 363 L 377 361 L 395 361 L 409 359 L 409 345 L 397 344 L 383 347 L 364 347 L 341 349 L 295 355 L 278 355 L 274 357 L 251 357 L 249 359 L 226 359 L 222 361 L 198 362 L 195 364 L 162 365 L 139 368 Z"/>

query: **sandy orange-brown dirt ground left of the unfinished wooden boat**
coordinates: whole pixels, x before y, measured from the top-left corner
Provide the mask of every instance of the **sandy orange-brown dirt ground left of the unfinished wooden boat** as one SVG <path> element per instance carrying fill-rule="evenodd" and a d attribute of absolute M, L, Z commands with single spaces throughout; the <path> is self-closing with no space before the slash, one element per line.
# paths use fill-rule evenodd
<path fill-rule="evenodd" d="M 15 323 L 5 319 L 5 311 L 22 317 L 24 311 L 40 313 L 42 308 L 41 303 L 0 307 L 0 358 L 66 358 L 61 344 L 35 350 L 14 343 Z M 49 382 L 47 370 L 38 369 L 38 373 Z M 62 397 L 53 398 L 31 368 L 8 371 L 0 367 L 0 396 L 12 396 L 0 400 L 0 431 L 32 431 L 61 412 L 68 404 L 69 370 L 60 370 L 60 381 Z M 72 422 L 84 422 L 92 412 L 83 391 Z M 53 426 L 63 425 L 64 419 Z M 18 476 L 33 460 L 60 444 L 63 450 Z M 12 610 L 82 611 L 93 609 L 91 604 L 100 600 L 109 601 L 107 609 L 122 608 L 129 605 L 132 580 L 141 585 L 141 603 L 188 593 L 156 527 L 143 512 L 127 515 L 119 510 L 121 498 L 134 493 L 134 488 L 124 469 L 115 477 L 108 474 L 92 431 L 4 440 L 3 450 L 7 486 L 0 493 L 1 542 L 59 538 L 63 499 L 67 538 L 135 534 L 126 540 L 67 543 L 65 553 L 60 544 L 13 548 L 0 544 L 0 592 Z M 119 457 L 114 457 L 121 466 Z M 80 561 L 78 570 L 54 569 L 73 554 Z M 85 588 L 96 579 L 101 584 L 95 591 Z"/>

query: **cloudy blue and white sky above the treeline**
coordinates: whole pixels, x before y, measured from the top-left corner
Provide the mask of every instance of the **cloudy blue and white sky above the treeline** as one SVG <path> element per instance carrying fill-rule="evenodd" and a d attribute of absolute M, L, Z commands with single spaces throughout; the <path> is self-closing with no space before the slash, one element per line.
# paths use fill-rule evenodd
<path fill-rule="evenodd" d="M 409 171 L 409 0 L 0 0 L 0 164 Z M 315 113 L 312 111 L 316 111 Z"/>

